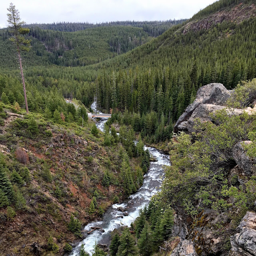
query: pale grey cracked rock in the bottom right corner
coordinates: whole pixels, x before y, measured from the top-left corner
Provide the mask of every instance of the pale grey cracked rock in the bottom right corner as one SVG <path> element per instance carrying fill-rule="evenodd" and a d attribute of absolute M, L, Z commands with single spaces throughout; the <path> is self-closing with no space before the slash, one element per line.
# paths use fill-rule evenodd
<path fill-rule="evenodd" d="M 247 212 L 236 233 L 231 236 L 232 248 L 229 256 L 255 256 L 256 255 L 256 213 Z"/>

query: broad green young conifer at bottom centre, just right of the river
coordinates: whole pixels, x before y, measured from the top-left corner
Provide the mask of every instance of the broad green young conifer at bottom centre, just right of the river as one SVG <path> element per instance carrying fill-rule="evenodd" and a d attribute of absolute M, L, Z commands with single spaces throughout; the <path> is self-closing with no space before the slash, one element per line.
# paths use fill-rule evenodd
<path fill-rule="evenodd" d="M 135 246 L 135 240 L 128 228 L 125 228 L 120 236 L 120 246 L 117 256 L 138 256 L 138 249 Z"/>

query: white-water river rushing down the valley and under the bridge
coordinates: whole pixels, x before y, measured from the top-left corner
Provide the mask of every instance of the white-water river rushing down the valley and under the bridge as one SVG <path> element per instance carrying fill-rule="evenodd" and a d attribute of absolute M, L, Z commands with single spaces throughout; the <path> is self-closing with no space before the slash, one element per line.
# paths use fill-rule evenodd
<path fill-rule="evenodd" d="M 96 112 L 96 104 L 93 103 L 91 108 Z M 106 121 L 107 119 L 102 119 L 97 122 L 96 126 L 98 129 L 103 131 Z M 144 175 L 144 181 L 140 189 L 135 194 L 132 194 L 122 204 L 117 204 L 116 206 L 113 205 L 109 208 L 103 215 L 102 220 L 90 222 L 84 227 L 84 231 L 86 231 L 86 233 L 92 230 L 91 227 L 93 226 L 102 227 L 105 231 L 102 233 L 100 230 L 95 230 L 87 235 L 87 237 L 82 241 L 84 243 L 84 248 L 90 255 L 92 255 L 95 243 L 109 244 L 110 233 L 115 228 L 119 228 L 120 226 L 130 226 L 130 224 L 139 216 L 140 209 L 143 209 L 144 206 L 149 203 L 150 198 L 160 190 L 164 175 L 163 166 L 170 165 L 169 156 L 161 153 L 159 150 L 156 150 L 156 148 L 144 146 L 144 149 L 148 149 L 156 161 L 150 162 L 150 168 Z M 129 214 L 128 216 L 124 216 L 124 213 L 118 210 L 117 207 L 121 206 L 126 209 L 126 212 Z M 74 248 L 70 256 L 79 255 L 82 242 Z"/>

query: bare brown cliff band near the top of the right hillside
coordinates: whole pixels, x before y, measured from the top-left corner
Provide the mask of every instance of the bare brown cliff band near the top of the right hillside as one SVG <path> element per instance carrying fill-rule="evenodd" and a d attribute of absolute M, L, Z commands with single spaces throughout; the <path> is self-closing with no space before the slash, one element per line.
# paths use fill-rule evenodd
<path fill-rule="evenodd" d="M 216 12 L 202 20 L 191 21 L 186 24 L 183 30 L 183 34 L 189 31 L 200 31 L 202 29 L 208 30 L 211 26 L 216 26 L 222 22 L 235 22 L 237 24 L 244 20 L 248 20 L 251 17 L 256 16 L 256 6 L 255 4 L 239 4 L 238 6 L 232 8 L 232 10 L 223 10 Z"/>

